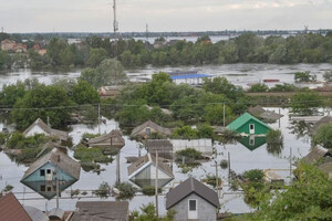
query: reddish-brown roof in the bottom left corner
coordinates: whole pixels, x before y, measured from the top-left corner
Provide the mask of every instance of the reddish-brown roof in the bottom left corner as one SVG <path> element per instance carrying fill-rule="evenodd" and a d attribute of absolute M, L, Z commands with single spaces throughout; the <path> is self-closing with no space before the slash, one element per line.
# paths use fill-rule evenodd
<path fill-rule="evenodd" d="M 12 192 L 0 198 L 0 220 L 32 221 L 28 212 Z"/>

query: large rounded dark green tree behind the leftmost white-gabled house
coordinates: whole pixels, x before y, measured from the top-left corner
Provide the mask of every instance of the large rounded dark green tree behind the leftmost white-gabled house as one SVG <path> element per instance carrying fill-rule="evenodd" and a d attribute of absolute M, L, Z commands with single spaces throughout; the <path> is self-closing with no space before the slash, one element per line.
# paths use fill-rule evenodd
<path fill-rule="evenodd" d="M 25 129 L 37 118 L 46 122 L 48 117 L 52 127 L 61 128 L 70 120 L 69 106 L 73 105 L 64 88 L 40 84 L 15 102 L 11 116 L 18 129 Z"/>

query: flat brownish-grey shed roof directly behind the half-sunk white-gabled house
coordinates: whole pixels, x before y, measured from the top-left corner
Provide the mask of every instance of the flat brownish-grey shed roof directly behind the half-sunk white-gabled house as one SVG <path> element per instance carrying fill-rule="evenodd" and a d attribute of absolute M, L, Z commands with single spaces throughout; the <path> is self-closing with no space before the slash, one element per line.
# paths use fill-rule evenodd
<path fill-rule="evenodd" d="M 173 144 L 168 139 L 148 139 L 146 148 L 153 156 L 158 151 L 159 157 L 173 159 Z"/>

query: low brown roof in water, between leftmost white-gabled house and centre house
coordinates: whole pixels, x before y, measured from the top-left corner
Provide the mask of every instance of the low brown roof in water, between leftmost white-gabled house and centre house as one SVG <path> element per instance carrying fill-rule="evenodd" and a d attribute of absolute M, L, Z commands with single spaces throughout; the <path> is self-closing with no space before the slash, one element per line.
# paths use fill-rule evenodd
<path fill-rule="evenodd" d="M 125 146 L 125 140 L 120 130 L 113 129 L 108 134 L 89 139 L 87 145 L 90 147 L 121 149 L 123 146 Z"/>

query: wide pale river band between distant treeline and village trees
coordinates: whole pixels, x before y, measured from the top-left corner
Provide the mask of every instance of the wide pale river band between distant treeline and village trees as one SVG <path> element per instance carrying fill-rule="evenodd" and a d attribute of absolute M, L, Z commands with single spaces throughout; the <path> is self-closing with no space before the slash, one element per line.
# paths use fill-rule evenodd
<path fill-rule="evenodd" d="M 317 75 L 318 81 L 322 81 L 325 71 L 332 70 L 332 64 L 224 64 L 224 65 L 200 65 L 200 66 L 163 66 L 156 67 L 147 65 L 146 67 L 126 70 L 131 81 L 148 81 L 152 74 L 158 72 L 174 71 L 197 71 L 198 73 L 209 74 L 212 76 L 225 76 L 236 85 L 248 87 L 250 84 L 262 82 L 267 78 L 279 80 L 281 83 L 294 83 L 293 74 L 295 72 L 310 71 Z M 38 78 L 40 82 L 51 84 L 55 78 L 76 78 L 81 70 L 69 73 L 53 72 L 32 72 L 31 70 L 18 70 L 0 72 L 0 90 L 4 84 L 13 84 L 18 80 Z"/>

